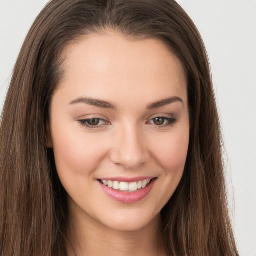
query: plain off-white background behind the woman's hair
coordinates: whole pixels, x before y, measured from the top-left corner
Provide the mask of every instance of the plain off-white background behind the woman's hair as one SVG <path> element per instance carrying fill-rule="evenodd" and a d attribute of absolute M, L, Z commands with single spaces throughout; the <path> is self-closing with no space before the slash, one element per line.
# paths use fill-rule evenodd
<path fill-rule="evenodd" d="M 0 112 L 21 43 L 47 0 L 0 0 Z M 242 256 L 256 256 L 256 0 L 178 0 L 211 62 Z M 213 252 L 214 254 L 214 252 Z"/>

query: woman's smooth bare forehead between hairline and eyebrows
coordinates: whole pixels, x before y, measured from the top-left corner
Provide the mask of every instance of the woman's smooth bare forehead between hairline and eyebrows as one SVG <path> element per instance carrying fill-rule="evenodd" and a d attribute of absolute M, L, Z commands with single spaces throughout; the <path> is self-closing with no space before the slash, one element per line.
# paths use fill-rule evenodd
<path fill-rule="evenodd" d="M 186 94 L 179 59 L 159 39 L 127 39 L 116 32 L 84 36 L 66 48 L 65 79 L 60 89 L 68 96 L 107 97 Z M 170 95 L 172 96 L 172 95 Z"/>

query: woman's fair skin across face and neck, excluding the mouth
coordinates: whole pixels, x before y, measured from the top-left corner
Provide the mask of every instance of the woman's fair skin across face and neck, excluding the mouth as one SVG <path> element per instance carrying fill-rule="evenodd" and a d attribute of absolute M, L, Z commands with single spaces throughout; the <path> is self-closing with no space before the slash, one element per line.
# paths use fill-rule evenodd
<path fill-rule="evenodd" d="M 65 70 L 50 105 L 47 146 L 68 193 L 74 250 L 164 255 L 160 210 L 182 177 L 189 140 L 180 61 L 159 40 L 107 31 L 69 45 Z M 154 183 L 141 200 L 126 203 L 102 189 L 100 180 L 112 177 Z"/>

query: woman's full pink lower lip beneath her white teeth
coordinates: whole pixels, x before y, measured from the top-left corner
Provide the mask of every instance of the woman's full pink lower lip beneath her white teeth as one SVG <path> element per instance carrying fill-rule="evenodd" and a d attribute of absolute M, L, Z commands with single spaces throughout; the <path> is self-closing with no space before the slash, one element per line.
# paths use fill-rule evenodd
<path fill-rule="evenodd" d="M 103 191 L 115 201 L 124 202 L 124 203 L 133 203 L 133 202 L 138 202 L 142 200 L 144 197 L 146 197 L 149 194 L 149 192 L 153 187 L 155 179 L 156 178 L 153 178 L 146 187 L 136 190 L 134 192 L 118 191 L 108 186 L 105 186 L 100 181 L 98 182 L 101 188 L 103 189 Z"/>

